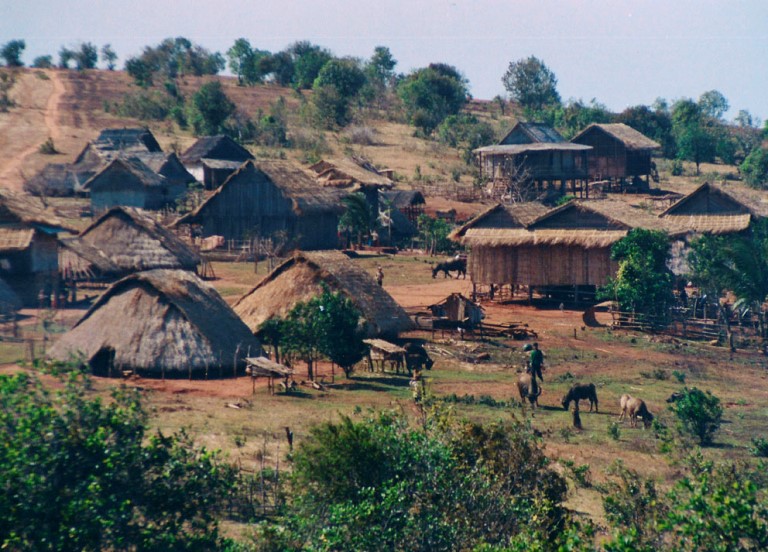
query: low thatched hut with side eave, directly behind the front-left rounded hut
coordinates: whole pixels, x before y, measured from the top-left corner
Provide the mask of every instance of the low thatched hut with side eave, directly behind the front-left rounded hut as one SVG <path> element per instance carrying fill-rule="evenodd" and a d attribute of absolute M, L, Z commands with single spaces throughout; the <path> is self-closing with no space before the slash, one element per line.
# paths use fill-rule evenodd
<path fill-rule="evenodd" d="M 80 236 L 65 243 L 64 249 L 67 255 L 79 257 L 70 262 L 62 258 L 62 271 L 71 275 L 82 272 L 77 263 L 83 261 L 94 274 L 112 278 L 156 268 L 195 271 L 200 264 L 200 256 L 170 230 L 128 207 L 105 212 Z"/>

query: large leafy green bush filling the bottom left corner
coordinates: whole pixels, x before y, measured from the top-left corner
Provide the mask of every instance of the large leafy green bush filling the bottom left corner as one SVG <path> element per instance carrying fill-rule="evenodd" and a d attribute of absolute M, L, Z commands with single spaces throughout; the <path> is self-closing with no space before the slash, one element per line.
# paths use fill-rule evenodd
<path fill-rule="evenodd" d="M 0 376 L 0 545 L 219 549 L 231 468 L 184 433 L 150 434 L 138 391 L 102 401 L 79 372 L 59 380 Z"/>

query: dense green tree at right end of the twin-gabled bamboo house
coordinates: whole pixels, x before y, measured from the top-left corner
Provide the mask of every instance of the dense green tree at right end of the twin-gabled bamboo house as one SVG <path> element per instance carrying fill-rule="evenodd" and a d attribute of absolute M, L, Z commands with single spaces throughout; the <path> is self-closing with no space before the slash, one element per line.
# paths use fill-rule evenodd
<path fill-rule="evenodd" d="M 664 232 L 634 228 L 611 248 L 619 262 L 616 277 L 601 288 L 605 299 L 619 302 L 621 310 L 663 324 L 672 305 L 672 275 L 667 268 L 669 237 Z"/>

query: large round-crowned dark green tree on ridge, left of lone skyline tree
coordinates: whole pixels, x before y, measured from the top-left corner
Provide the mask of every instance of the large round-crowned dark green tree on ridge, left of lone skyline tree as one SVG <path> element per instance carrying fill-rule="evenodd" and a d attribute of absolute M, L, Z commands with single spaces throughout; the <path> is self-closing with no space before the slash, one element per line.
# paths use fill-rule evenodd
<path fill-rule="evenodd" d="M 399 85 L 397 93 L 409 122 L 425 135 L 467 103 L 467 81 L 454 67 L 433 63 L 417 69 Z"/>

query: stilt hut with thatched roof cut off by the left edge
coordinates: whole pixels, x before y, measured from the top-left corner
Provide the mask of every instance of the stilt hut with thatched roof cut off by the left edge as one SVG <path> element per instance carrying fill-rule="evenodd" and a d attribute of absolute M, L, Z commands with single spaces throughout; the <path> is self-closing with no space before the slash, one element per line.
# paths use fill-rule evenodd
<path fill-rule="evenodd" d="M 0 189 L 0 277 L 24 306 L 59 292 L 57 235 L 74 232 L 37 199 Z"/>

